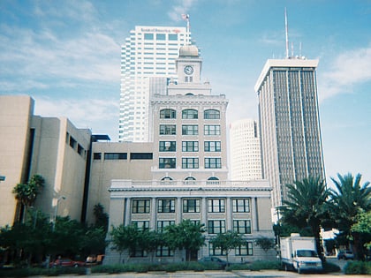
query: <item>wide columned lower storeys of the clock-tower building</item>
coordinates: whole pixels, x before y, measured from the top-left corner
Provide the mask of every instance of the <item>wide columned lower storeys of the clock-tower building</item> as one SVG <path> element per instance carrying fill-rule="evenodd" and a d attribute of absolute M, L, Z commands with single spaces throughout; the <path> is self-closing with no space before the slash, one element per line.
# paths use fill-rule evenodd
<path fill-rule="evenodd" d="M 199 222 L 206 227 L 205 246 L 197 258 L 225 256 L 209 240 L 228 230 L 244 238 L 229 254 L 231 262 L 248 262 L 274 259 L 276 251 L 265 252 L 255 244 L 260 237 L 273 240 L 270 217 L 270 192 L 268 181 L 130 181 L 114 180 L 110 184 L 110 225 L 136 225 L 140 229 L 162 231 L 170 224 L 184 219 Z M 138 249 L 132 254 L 119 254 L 110 246 L 106 249 L 104 263 L 117 264 L 148 262 L 150 254 Z M 222 257 L 223 258 L 223 257 Z M 156 262 L 186 260 L 185 251 L 173 251 L 162 246 L 155 251 Z"/>

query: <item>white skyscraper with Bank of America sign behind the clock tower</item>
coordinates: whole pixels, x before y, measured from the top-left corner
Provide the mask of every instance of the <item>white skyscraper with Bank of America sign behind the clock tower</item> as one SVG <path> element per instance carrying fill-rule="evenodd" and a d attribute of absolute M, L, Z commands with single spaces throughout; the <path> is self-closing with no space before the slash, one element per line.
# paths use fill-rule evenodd
<path fill-rule="evenodd" d="M 186 27 L 135 26 L 121 49 L 119 141 L 148 141 L 151 94 L 177 78 L 175 60 L 189 41 Z"/>

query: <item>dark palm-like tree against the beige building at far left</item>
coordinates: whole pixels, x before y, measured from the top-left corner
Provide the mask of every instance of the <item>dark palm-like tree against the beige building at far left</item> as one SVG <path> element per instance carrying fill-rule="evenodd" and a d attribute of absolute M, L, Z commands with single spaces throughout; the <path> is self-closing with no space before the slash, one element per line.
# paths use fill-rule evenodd
<path fill-rule="evenodd" d="M 15 194 L 15 198 L 21 204 L 19 219 L 22 219 L 22 222 L 24 221 L 24 212 L 27 210 L 27 207 L 34 205 L 34 201 L 44 185 L 44 178 L 40 175 L 34 175 L 27 184 L 17 184 L 13 188 L 12 193 Z"/>

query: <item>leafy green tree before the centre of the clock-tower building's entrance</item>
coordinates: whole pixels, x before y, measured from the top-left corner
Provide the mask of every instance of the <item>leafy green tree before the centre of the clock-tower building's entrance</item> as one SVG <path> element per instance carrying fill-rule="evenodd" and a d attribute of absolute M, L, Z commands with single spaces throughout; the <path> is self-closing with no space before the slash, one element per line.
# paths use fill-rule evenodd
<path fill-rule="evenodd" d="M 205 244 L 204 224 L 193 223 L 183 220 L 178 225 L 170 225 L 165 228 L 164 238 L 170 249 L 186 250 L 186 260 L 197 259 L 197 252 Z"/>

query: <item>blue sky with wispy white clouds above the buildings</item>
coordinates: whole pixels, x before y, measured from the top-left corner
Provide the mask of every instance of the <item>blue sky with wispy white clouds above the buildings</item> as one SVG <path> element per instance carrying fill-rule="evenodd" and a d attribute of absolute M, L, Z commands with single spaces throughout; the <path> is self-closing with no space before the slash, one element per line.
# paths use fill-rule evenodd
<path fill-rule="evenodd" d="M 285 52 L 319 59 L 322 144 L 328 177 L 371 181 L 371 1 L 0 1 L 0 94 L 29 94 L 41 116 L 117 140 L 120 45 L 134 26 L 186 26 L 203 79 L 230 100 L 228 121 L 257 119 L 254 85 Z M 291 50 L 290 50 L 291 51 Z"/>

